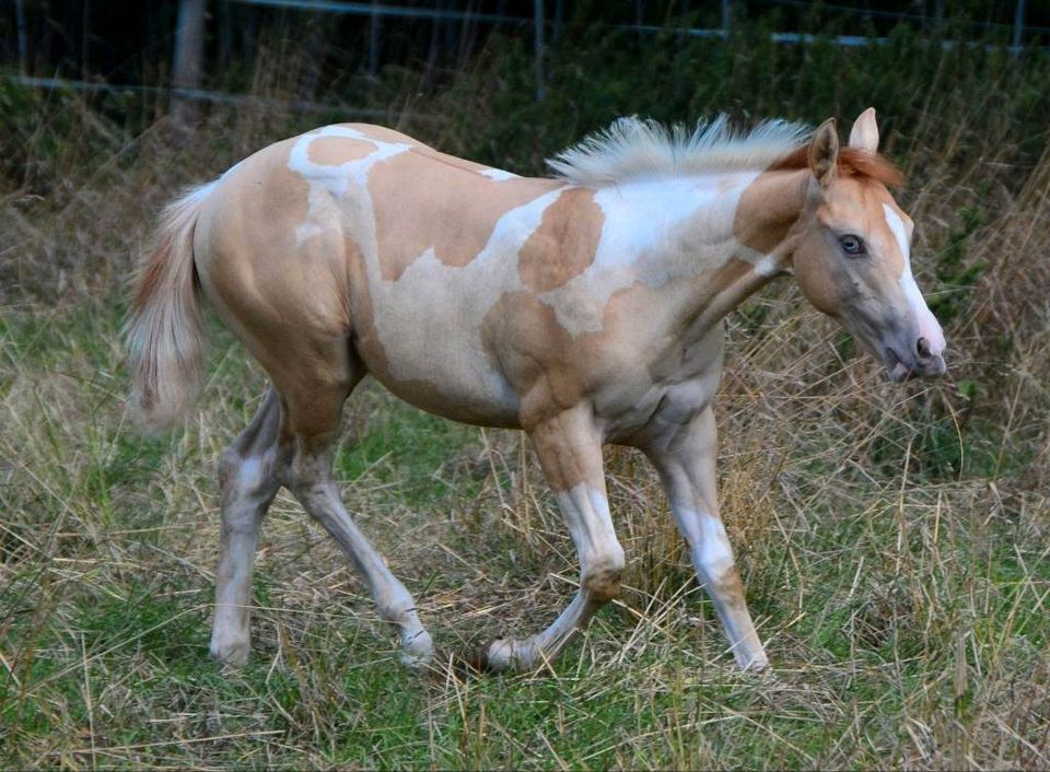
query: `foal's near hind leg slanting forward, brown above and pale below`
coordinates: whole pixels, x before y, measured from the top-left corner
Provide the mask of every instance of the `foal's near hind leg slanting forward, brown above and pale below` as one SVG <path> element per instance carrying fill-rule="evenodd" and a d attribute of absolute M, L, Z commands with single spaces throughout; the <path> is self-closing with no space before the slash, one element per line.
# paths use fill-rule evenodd
<path fill-rule="evenodd" d="M 357 378 L 352 381 L 355 383 Z M 300 388 L 287 395 L 290 426 L 294 434 L 288 486 L 306 512 L 335 538 L 364 578 L 380 616 L 400 635 L 405 662 L 425 664 L 433 656 L 433 643 L 416 613 L 416 601 L 350 517 L 331 478 L 342 402 L 348 393 L 345 386 L 312 384 L 307 389 Z"/>

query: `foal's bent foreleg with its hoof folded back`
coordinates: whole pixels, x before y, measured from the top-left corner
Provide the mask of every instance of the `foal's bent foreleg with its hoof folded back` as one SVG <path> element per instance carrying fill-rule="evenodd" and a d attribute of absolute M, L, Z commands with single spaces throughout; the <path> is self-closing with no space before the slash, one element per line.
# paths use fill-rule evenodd
<path fill-rule="evenodd" d="M 534 428 L 530 436 L 580 555 L 580 589 L 544 632 L 492 643 L 486 663 L 493 669 L 532 668 L 557 657 L 594 612 L 618 595 L 623 570 L 590 406 L 560 413 Z"/>

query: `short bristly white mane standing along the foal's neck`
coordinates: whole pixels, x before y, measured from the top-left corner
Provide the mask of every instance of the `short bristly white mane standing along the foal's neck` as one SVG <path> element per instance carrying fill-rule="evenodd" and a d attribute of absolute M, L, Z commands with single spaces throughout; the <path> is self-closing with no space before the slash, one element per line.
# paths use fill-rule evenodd
<path fill-rule="evenodd" d="M 740 132 L 725 114 L 701 119 L 689 131 L 632 116 L 588 134 L 547 165 L 568 183 L 592 187 L 638 177 L 765 169 L 797 150 L 810 131 L 804 124 L 774 119 Z"/>

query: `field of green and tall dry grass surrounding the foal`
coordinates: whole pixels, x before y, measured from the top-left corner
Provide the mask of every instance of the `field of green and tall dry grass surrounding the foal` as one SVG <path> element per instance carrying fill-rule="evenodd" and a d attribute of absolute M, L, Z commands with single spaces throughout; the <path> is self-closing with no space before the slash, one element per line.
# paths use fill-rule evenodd
<path fill-rule="evenodd" d="M 626 588 L 551 668 L 402 668 L 349 563 L 284 493 L 252 660 L 212 662 L 214 464 L 266 383 L 215 324 L 198 408 L 170 435 L 138 433 L 127 277 L 178 186 L 314 119 L 217 113 L 175 149 L 149 116 L 133 128 L 113 105 L 0 93 L 23 110 L 5 118 L 22 165 L 0 189 L 0 765 L 1050 768 L 1050 153 L 1038 79 L 1003 67 L 1000 93 L 887 107 L 948 378 L 883 382 L 790 281 L 730 318 L 722 504 L 772 662 L 759 676 L 725 653 L 654 475 L 615 448 Z M 470 93 L 485 72 L 428 106 L 485 98 Z M 851 100 L 826 107 L 848 120 Z M 522 142 L 495 117 L 481 136 L 455 119 L 417 133 L 537 172 L 594 115 L 556 107 L 529 114 Z M 443 654 L 538 630 L 572 595 L 572 546 L 518 434 L 370 384 L 337 471 Z"/>

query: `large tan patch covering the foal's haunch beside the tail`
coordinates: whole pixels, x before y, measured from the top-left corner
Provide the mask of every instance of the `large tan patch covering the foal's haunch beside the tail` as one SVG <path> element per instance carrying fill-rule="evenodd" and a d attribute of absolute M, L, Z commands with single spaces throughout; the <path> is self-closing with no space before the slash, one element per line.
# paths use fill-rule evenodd
<path fill-rule="evenodd" d="M 291 147 L 271 145 L 223 178 L 198 221 L 197 266 L 215 309 L 290 406 L 292 429 L 323 435 L 338 430 L 355 377 L 348 288 L 335 231 L 295 237 L 310 188 L 288 168 Z"/>

